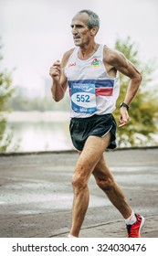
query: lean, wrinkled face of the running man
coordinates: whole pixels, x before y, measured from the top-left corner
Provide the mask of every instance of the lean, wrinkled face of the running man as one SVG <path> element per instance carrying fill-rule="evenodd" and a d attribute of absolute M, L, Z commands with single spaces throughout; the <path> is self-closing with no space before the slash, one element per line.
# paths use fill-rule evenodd
<path fill-rule="evenodd" d="M 83 13 L 72 19 L 72 35 L 77 47 L 83 47 L 90 42 L 91 30 L 88 27 L 88 18 L 89 16 Z"/>

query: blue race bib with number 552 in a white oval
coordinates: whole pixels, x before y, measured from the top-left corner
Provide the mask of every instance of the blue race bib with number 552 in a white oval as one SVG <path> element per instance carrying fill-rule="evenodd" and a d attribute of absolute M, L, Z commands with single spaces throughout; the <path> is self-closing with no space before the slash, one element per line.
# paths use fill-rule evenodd
<path fill-rule="evenodd" d="M 74 112 L 96 112 L 95 84 L 72 83 L 71 107 Z"/>

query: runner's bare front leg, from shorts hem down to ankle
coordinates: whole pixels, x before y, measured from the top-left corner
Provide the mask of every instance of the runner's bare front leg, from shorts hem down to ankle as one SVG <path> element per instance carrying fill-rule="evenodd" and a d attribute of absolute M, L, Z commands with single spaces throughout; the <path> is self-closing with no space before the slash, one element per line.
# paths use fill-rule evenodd
<path fill-rule="evenodd" d="M 100 161 L 104 149 L 109 145 L 110 138 L 110 133 L 103 138 L 90 136 L 86 141 L 83 151 L 79 155 L 79 160 L 72 178 L 74 200 L 70 234 L 75 237 L 79 237 L 79 230 L 89 206 L 90 195 L 88 181 L 90 175 L 95 165 Z"/>

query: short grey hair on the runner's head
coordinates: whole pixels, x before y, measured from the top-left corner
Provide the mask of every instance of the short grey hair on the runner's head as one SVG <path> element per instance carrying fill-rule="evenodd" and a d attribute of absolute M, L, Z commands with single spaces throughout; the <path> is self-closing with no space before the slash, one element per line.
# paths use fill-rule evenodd
<path fill-rule="evenodd" d="M 100 28 L 100 17 L 97 14 L 87 9 L 79 11 L 78 14 L 83 14 L 83 13 L 86 13 L 89 16 L 89 20 L 88 20 L 89 29 L 93 27 L 98 27 L 98 29 Z"/>

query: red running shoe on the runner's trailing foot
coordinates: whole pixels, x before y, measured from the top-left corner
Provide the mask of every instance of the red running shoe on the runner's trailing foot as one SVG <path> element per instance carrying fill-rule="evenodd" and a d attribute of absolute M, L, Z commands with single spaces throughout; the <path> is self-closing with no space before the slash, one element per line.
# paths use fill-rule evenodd
<path fill-rule="evenodd" d="M 144 224 L 144 218 L 139 215 L 135 214 L 137 221 L 132 225 L 126 225 L 128 231 L 128 238 L 141 238 L 141 229 Z"/>

